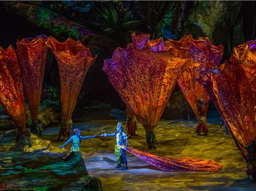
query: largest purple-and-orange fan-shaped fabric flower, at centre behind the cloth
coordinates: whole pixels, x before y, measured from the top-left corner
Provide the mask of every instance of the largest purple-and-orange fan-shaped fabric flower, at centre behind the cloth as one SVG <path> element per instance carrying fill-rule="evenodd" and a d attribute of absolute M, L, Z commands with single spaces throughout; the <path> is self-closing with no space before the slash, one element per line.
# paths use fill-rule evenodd
<path fill-rule="evenodd" d="M 175 58 L 162 37 L 132 33 L 132 44 L 117 48 L 102 70 L 146 131 L 148 147 L 156 147 L 154 129 L 178 77 L 190 59 Z"/>

